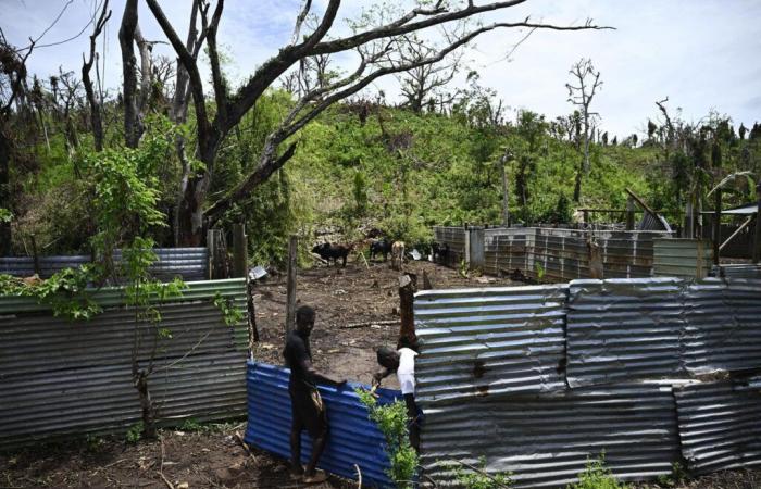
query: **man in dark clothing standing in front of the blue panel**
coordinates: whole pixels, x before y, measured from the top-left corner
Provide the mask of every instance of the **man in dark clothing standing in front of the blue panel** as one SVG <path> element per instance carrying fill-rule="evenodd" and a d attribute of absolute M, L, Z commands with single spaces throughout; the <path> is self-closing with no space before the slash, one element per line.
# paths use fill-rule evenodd
<path fill-rule="evenodd" d="M 288 334 L 283 351 L 286 365 L 290 368 L 288 392 L 292 410 L 290 426 L 290 465 L 295 477 L 302 477 L 305 484 L 319 484 L 327 476 L 316 471 L 317 461 L 327 441 L 327 413 L 317 391 L 317 383 L 340 386 L 346 380 L 333 378 L 317 372 L 312 366 L 312 350 L 309 336 L 314 327 L 314 310 L 302 305 L 296 311 L 296 329 Z M 312 456 L 305 468 L 301 467 L 301 431 L 307 429 L 312 438 Z"/>

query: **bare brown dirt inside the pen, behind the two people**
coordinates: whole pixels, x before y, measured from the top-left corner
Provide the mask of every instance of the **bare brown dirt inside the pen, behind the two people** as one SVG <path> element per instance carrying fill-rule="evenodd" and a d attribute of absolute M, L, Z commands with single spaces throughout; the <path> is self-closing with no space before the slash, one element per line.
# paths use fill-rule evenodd
<path fill-rule="evenodd" d="M 298 304 L 309 304 L 316 311 L 312 331 L 312 355 L 317 368 L 337 378 L 370 383 L 377 371 L 375 349 L 394 346 L 399 334 L 399 272 L 389 262 L 350 260 L 346 268 L 319 264 L 299 271 Z M 415 274 L 419 286 L 423 272 L 434 288 L 492 287 L 520 285 L 507 278 L 462 277 L 458 271 L 431 262 L 408 262 L 404 272 Z M 254 309 L 260 344 L 254 358 L 262 362 L 283 364 L 283 340 L 286 315 L 286 277 L 269 277 L 257 284 Z M 377 323 L 377 324 L 374 324 Z M 394 323 L 394 324 L 389 324 Z M 362 327 L 347 326 L 363 324 Z M 385 387 L 397 388 L 394 376 Z"/>

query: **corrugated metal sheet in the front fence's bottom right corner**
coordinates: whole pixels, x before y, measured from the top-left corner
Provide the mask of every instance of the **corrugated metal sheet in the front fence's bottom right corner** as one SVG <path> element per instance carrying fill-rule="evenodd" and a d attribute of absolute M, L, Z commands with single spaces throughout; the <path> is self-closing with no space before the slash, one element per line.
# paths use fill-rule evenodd
<path fill-rule="evenodd" d="M 690 471 L 761 465 L 761 391 L 720 381 L 675 388 L 674 396 Z"/>

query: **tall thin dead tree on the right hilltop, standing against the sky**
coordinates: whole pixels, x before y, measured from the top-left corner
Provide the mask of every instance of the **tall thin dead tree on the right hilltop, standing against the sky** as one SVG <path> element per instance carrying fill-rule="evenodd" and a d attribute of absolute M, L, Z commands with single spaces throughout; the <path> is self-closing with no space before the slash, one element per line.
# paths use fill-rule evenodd
<path fill-rule="evenodd" d="M 597 112 L 591 112 L 589 106 L 595 93 L 602 86 L 602 82 L 600 80 L 600 72 L 595 72 L 595 66 L 589 59 L 582 58 L 571 67 L 569 73 L 574 78 L 572 83 L 578 84 L 565 84 L 565 88 L 569 89 L 569 102 L 578 108 L 584 130 L 584 158 L 576 173 L 576 185 L 573 190 L 573 200 L 578 202 L 582 196 L 582 174 L 589 173 L 589 133 L 600 115 Z"/>

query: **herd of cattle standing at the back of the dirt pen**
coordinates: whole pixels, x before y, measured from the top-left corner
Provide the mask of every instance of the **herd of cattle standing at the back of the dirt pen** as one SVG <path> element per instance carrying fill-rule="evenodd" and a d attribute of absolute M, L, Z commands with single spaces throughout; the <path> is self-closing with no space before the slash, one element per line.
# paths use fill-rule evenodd
<path fill-rule="evenodd" d="M 333 260 L 334 264 L 338 266 L 338 260 L 340 259 L 342 266 L 346 266 L 346 260 L 351 251 L 355 248 L 364 248 L 366 244 L 370 244 L 370 260 L 375 260 L 376 258 L 383 256 L 383 261 L 385 262 L 388 260 L 388 255 L 390 254 L 391 266 L 394 268 L 401 265 L 402 261 L 404 260 L 414 259 L 413 250 L 417 250 L 417 252 L 422 253 L 424 256 L 431 254 L 433 260 L 437 263 L 446 263 L 449 254 L 449 246 L 446 243 L 439 244 L 436 241 L 422 242 L 415 244 L 415 247 L 409 252 L 406 252 L 403 241 L 391 241 L 386 238 L 372 239 L 370 241 L 358 241 L 348 244 L 323 242 L 312 248 L 312 253 L 315 253 L 321 259 L 326 261 L 328 265 L 330 264 L 330 260 Z"/>

